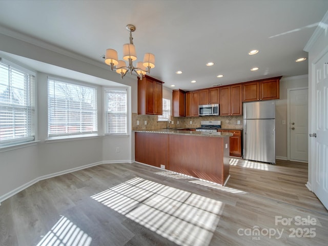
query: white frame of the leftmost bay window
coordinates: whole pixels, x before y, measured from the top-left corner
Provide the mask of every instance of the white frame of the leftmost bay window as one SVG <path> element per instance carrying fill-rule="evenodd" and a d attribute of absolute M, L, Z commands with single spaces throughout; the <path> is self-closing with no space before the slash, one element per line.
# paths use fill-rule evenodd
<path fill-rule="evenodd" d="M 28 105 L 15 105 L 7 103 L 7 107 L 26 109 L 28 116 L 26 116 L 26 133 L 27 136 L 18 137 L 18 138 L 10 138 L 1 140 L 0 139 L 0 150 L 4 149 L 13 149 L 19 148 L 18 146 L 30 146 L 37 142 L 37 76 L 36 72 L 25 65 L 20 65 L 16 61 L 8 60 L 7 58 L 0 57 L 0 63 L 9 67 L 9 69 L 13 69 L 20 73 L 24 73 L 24 77 L 28 75 L 28 82 L 26 82 L 26 78 L 24 78 L 24 87 L 25 83 L 28 83 L 29 89 L 24 89 L 24 95 L 28 98 Z M 8 70 L 9 72 L 9 70 Z M 9 77 L 8 77 L 9 78 Z M 13 83 L 13 81 L 11 81 Z M 10 85 L 8 85 L 10 86 Z M 9 89 L 9 88 L 8 88 Z M 10 89 L 9 89 L 10 90 Z M 3 107 L 6 107 L 6 104 L 3 104 Z M 4 144 L 2 144 L 4 143 Z"/>

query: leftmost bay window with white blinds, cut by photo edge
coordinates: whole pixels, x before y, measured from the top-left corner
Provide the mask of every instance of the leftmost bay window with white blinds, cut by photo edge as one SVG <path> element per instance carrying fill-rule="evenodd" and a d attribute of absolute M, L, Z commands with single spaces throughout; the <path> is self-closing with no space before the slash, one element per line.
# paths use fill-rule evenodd
<path fill-rule="evenodd" d="M 35 73 L 0 58 L 0 148 L 35 140 Z"/>

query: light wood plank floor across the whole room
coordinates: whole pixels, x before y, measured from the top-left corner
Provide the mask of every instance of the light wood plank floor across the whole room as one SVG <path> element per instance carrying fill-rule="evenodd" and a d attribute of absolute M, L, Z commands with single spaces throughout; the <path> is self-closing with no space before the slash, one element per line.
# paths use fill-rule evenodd
<path fill-rule="evenodd" d="M 304 163 L 232 158 L 230 174 L 220 187 L 118 163 L 39 181 L 2 202 L 0 245 L 327 245 Z"/>

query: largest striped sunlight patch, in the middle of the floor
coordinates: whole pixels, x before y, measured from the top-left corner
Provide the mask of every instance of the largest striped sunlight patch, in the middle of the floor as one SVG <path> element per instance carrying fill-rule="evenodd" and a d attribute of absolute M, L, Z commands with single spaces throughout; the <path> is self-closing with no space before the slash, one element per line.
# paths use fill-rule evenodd
<path fill-rule="evenodd" d="M 222 212 L 221 201 L 138 177 L 91 198 L 182 246 L 209 245 Z"/>

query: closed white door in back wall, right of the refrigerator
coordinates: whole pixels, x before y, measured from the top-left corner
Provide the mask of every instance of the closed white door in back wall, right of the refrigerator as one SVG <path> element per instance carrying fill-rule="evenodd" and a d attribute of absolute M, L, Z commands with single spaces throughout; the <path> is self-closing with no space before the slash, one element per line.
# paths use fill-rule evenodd
<path fill-rule="evenodd" d="M 308 161 L 308 98 L 306 88 L 290 90 L 290 159 Z"/>

